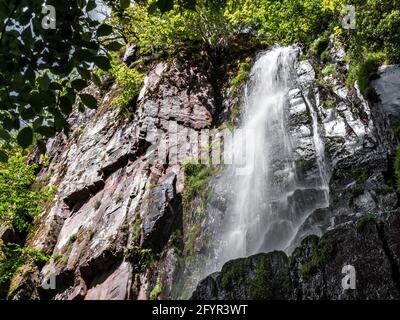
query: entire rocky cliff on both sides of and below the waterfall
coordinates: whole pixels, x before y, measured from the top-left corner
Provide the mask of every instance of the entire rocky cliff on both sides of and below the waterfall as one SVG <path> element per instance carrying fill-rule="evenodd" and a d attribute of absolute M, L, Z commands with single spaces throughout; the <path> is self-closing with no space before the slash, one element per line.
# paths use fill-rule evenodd
<path fill-rule="evenodd" d="M 129 117 L 112 104 L 119 91 L 112 79 L 102 90 L 90 88 L 99 109 L 70 117 L 71 135 L 48 142 L 48 164 L 38 177 L 58 191 L 27 243 L 51 259 L 20 269 L 9 297 L 189 297 L 191 291 L 179 292 L 186 290 L 182 279 L 193 279 L 189 287 L 200 280 L 193 269 L 207 254 L 210 226 L 225 214 L 226 199 L 217 187 L 211 195 L 188 196 L 185 163 L 211 152 L 210 129 L 237 122 L 241 88 L 230 81 L 237 60 L 257 52 L 249 48 L 220 60 L 182 53 L 151 63 Z M 332 48 L 331 55 L 339 70 L 346 68 L 340 50 Z M 385 100 L 387 86 L 377 79 L 381 99 L 367 101 L 344 85 L 340 72 L 316 75 L 310 61 L 298 61 L 296 72 L 288 110 L 298 170 L 310 180 L 318 170 L 313 140 L 318 130 L 329 206 L 304 221 L 300 245 L 289 258 L 272 252 L 228 262 L 199 284 L 195 299 L 399 297 L 400 221 L 387 114 L 388 104 L 390 110 L 400 108 L 398 97 Z M 386 72 L 395 67 L 381 70 L 382 81 Z M 207 138 L 204 130 L 211 132 Z M 218 169 L 204 174 L 205 189 L 208 183 L 218 186 L 218 174 Z M 299 200 L 304 196 L 314 193 L 298 190 L 293 205 L 306 208 L 307 201 Z M 346 264 L 356 269 L 357 290 L 343 293 Z M 44 289 L 52 278 L 55 288 Z"/>

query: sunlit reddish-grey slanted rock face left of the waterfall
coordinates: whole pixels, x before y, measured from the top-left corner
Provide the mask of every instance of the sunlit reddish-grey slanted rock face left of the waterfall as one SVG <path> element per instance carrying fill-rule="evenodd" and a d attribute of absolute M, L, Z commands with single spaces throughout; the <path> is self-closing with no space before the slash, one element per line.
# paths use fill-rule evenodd
<path fill-rule="evenodd" d="M 11 297 L 144 299 L 158 278 L 168 297 L 177 265 L 168 241 L 182 226 L 181 163 L 208 145 L 196 141 L 192 150 L 187 140 L 210 126 L 214 112 L 207 59 L 154 64 L 132 121 L 112 105 L 115 84 L 89 90 L 99 109 L 72 114 L 71 136 L 49 141 L 50 165 L 40 173 L 58 192 L 28 243 L 51 259 L 18 277 Z M 52 277 L 57 288 L 42 290 Z"/>

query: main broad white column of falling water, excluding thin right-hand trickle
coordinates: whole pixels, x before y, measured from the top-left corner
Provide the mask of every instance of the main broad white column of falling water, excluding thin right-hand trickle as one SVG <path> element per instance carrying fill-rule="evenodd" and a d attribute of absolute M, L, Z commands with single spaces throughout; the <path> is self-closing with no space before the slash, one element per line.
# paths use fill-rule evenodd
<path fill-rule="evenodd" d="M 248 169 L 234 165 L 227 172 L 235 176 L 236 198 L 223 223 L 218 267 L 230 259 L 285 249 L 293 233 L 291 214 L 279 207 L 286 206 L 297 185 L 284 109 L 295 57 L 292 48 L 277 48 L 261 56 L 251 71 L 241 128 L 245 141 L 233 145 L 234 159 L 244 156 Z"/>

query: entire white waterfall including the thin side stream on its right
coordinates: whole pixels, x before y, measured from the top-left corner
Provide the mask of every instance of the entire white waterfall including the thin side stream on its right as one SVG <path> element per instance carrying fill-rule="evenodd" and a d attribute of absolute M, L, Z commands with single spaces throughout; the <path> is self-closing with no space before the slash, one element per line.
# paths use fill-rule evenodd
<path fill-rule="evenodd" d="M 214 248 L 200 279 L 232 259 L 272 250 L 290 253 L 306 218 L 328 205 L 324 145 L 315 110 L 310 116 L 316 177 L 310 183 L 297 172 L 288 127 L 288 93 L 295 84 L 297 57 L 296 48 L 277 47 L 262 54 L 251 70 L 240 126 L 243 139 L 233 139 L 227 146 L 236 161 L 218 179 L 220 185 L 229 186 L 231 197 L 214 228 Z M 237 164 L 238 159 L 245 159 L 245 166 Z"/>

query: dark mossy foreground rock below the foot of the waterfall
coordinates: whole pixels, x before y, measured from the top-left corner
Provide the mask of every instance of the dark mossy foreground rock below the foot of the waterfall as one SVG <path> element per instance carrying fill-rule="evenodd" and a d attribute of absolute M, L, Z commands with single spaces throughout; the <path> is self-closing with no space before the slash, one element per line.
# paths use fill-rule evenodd
<path fill-rule="evenodd" d="M 399 211 L 364 217 L 322 238 L 309 236 L 289 259 L 271 252 L 230 261 L 201 281 L 192 299 L 399 299 L 399 237 L 393 238 L 399 217 Z M 342 286 L 349 265 L 355 289 Z M 252 290 L 254 281 L 260 291 Z"/>

